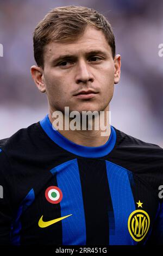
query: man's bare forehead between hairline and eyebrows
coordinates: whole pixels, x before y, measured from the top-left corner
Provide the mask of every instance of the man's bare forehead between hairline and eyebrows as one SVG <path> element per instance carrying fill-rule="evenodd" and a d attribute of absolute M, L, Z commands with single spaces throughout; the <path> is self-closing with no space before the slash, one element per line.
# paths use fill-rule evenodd
<path fill-rule="evenodd" d="M 87 26 L 84 33 L 71 42 L 50 42 L 45 46 L 44 59 L 58 57 L 61 54 L 84 54 L 89 51 L 101 50 L 111 53 L 105 35 L 95 27 Z"/>

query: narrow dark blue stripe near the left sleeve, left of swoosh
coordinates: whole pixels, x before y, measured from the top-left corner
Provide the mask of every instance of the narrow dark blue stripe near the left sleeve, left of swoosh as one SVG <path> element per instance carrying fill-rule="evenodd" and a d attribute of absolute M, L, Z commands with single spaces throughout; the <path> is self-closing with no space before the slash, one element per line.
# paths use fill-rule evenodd
<path fill-rule="evenodd" d="M 12 243 L 12 245 L 20 245 L 21 244 L 20 231 L 22 229 L 22 225 L 21 225 L 20 218 L 21 218 L 21 215 L 23 214 L 23 212 L 28 208 L 28 206 L 33 203 L 34 199 L 35 199 L 35 194 L 34 194 L 34 190 L 32 188 L 32 190 L 30 190 L 29 193 L 27 194 L 27 196 L 23 199 L 20 207 L 17 210 L 15 220 L 12 222 L 12 225 L 11 225 L 11 243 Z"/>

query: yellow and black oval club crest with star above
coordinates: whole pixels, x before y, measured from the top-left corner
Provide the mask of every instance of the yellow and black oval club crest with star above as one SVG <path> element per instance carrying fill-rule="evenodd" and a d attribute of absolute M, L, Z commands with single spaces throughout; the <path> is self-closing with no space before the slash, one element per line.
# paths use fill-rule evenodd
<path fill-rule="evenodd" d="M 138 208 L 142 208 L 142 204 L 139 200 Z M 136 242 L 141 241 L 147 234 L 150 225 L 149 215 L 146 211 L 135 210 L 131 212 L 128 218 L 128 230 Z"/>

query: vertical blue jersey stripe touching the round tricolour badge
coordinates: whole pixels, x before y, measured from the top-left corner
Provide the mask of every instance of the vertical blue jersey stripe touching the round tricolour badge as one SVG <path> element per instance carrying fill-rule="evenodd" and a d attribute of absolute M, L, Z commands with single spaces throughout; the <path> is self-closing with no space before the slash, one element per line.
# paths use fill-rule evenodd
<path fill-rule="evenodd" d="M 85 215 L 77 159 L 60 164 L 51 173 L 57 175 L 58 187 L 63 194 L 61 217 L 72 214 L 62 220 L 62 244 L 85 245 Z"/>

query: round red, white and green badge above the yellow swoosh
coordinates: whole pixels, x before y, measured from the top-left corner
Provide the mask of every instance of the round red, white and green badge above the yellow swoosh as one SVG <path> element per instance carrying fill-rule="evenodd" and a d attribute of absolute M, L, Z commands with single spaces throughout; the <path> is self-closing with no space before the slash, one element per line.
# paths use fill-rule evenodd
<path fill-rule="evenodd" d="M 45 197 L 51 204 L 58 204 L 62 200 L 62 192 L 59 187 L 51 186 L 45 191 Z"/>

